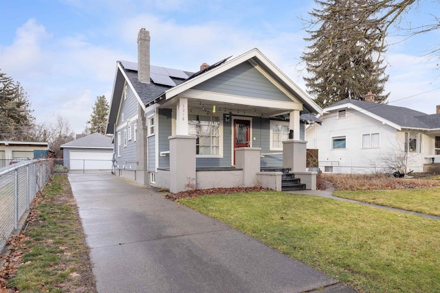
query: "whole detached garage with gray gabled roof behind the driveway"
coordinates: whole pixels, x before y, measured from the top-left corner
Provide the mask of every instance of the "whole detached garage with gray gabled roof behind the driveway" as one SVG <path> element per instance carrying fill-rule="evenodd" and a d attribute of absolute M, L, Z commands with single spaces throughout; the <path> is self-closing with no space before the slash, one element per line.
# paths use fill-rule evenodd
<path fill-rule="evenodd" d="M 71 170 L 111 170 L 113 145 L 111 137 L 89 134 L 61 145 L 64 165 Z"/>

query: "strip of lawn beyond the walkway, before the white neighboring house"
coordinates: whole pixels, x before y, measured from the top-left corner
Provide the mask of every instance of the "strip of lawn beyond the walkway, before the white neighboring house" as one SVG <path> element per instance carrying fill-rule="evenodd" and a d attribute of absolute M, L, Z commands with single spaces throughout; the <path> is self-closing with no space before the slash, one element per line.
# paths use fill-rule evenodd
<path fill-rule="evenodd" d="M 335 191 L 334 196 L 361 202 L 416 211 L 429 215 L 440 215 L 440 188 L 394 189 L 369 191 Z"/>

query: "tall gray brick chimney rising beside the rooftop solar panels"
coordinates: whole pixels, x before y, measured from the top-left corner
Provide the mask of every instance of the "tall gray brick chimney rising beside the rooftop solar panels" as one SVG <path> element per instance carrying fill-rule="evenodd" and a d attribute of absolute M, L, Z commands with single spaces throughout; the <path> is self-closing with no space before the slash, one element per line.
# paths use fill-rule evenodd
<path fill-rule="evenodd" d="M 143 27 L 137 34 L 137 80 L 150 83 L 150 32 Z"/>

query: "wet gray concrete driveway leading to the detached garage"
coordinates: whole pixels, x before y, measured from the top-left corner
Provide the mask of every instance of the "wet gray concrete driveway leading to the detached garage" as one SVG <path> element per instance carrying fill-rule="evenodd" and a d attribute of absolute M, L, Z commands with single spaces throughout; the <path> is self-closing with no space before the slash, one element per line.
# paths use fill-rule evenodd
<path fill-rule="evenodd" d="M 355 292 L 151 187 L 111 174 L 69 181 L 100 293 Z"/>

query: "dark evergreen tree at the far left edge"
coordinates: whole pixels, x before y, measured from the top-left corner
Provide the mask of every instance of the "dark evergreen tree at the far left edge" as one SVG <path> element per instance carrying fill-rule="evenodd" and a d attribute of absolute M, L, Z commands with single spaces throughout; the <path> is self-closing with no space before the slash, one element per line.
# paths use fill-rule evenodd
<path fill-rule="evenodd" d="M 19 82 L 0 72 L 0 139 L 26 139 L 25 129 L 33 120 L 28 93 Z"/>

